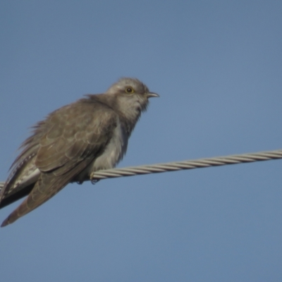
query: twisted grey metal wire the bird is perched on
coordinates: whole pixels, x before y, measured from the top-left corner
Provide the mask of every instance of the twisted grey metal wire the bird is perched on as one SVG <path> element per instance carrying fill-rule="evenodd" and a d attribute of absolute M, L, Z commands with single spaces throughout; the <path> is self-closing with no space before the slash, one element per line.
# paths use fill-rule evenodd
<path fill-rule="evenodd" d="M 97 180 L 106 178 L 118 178 L 122 176 L 136 176 L 149 173 L 180 171 L 193 168 L 207 168 L 210 166 L 225 166 L 227 164 L 243 164 L 254 161 L 269 161 L 271 159 L 282 159 L 282 149 L 250 154 L 233 154 L 224 157 L 193 159 L 188 161 L 173 161 L 162 164 L 106 169 L 103 171 L 95 171 L 92 174 L 92 182 L 97 182 Z M 3 185 L 4 182 L 0 182 L 0 190 Z"/>

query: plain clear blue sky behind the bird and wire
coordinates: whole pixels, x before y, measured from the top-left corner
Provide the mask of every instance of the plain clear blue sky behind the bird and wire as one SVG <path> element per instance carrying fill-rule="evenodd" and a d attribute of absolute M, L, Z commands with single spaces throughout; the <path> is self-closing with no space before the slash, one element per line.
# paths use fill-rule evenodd
<path fill-rule="evenodd" d="M 160 98 L 120 167 L 281 149 L 281 13 L 281 1 L 1 1 L 0 180 L 31 125 L 123 76 Z M 1 228 L 1 280 L 281 281 L 281 164 L 68 185 Z"/>

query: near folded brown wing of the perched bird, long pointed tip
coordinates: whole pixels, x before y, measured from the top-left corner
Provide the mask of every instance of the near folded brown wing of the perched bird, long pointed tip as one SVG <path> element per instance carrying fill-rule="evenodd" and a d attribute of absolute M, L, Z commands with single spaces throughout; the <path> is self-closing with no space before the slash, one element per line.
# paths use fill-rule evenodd
<path fill-rule="evenodd" d="M 115 112 L 102 104 L 77 102 L 52 113 L 44 123 L 35 158 L 39 178 L 2 226 L 31 212 L 78 176 L 104 152 L 116 123 Z"/>

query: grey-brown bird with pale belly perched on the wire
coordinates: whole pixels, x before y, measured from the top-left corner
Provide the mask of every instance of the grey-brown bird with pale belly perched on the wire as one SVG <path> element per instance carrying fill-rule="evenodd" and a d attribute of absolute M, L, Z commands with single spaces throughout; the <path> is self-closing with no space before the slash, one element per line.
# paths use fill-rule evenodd
<path fill-rule="evenodd" d="M 68 183 L 82 183 L 123 158 L 135 124 L 147 109 L 148 87 L 121 78 L 103 94 L 87 94 L 53 111 L 34 126 L 0 193 L 0 208 L 27 197 L 2 223 L 13 223 L 56 195 Z"/>

